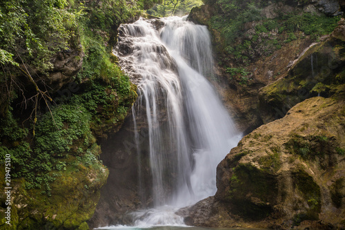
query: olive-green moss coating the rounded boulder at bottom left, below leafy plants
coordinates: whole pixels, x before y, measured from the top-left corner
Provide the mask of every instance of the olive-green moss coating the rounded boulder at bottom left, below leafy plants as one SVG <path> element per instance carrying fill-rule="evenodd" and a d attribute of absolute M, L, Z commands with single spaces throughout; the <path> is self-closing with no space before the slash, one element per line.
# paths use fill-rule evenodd
<path fill-rule="evenodd" d="M 23 218 L 19 229 L 40 229 L 42 226 L 77 229 L 91 218 L 99 200 L 99 187 L 106 182 L 108 171 L 99 162 L 90 166 L 80 162 L 78 169 L 62 171 L 50 185 L 50 197 L 42 194 L 39 189 L 26 191 L 21 202 L 30 202 L 30 206 L 19 211 Z"/>

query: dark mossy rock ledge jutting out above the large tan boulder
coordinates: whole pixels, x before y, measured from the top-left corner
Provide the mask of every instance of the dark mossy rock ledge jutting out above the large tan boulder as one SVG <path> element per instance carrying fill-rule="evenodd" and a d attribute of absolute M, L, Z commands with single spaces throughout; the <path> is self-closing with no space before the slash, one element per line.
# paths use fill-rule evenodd
<path fill-rule="evenodd" d="M 286 76 L 259 92 L 259 111 L 264 123 L 284 117 L 295 104 L 317 95 L 331 97 L 342 92 L 345 66 L 344 22 L 326 41 L 313 44 L 291 61 Z"/>

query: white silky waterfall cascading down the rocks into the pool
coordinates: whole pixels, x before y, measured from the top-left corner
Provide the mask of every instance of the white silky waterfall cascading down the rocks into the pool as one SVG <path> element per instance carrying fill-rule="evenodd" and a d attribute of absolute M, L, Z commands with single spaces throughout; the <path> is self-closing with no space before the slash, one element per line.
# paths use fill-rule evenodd
<path fill-rule="evenodd" d="M 131 213 L 133 226 L 183 226 L 175 212 L 215 195 L 217 164 L 241 137 L 206 79 L 213 77 L 210 35 L 186 17 L 139 19 L 121 25 L 114 52 L 138 87 L 135 148 L 139 159 L 149 155 L 152 175 L 154 208 Z"/>

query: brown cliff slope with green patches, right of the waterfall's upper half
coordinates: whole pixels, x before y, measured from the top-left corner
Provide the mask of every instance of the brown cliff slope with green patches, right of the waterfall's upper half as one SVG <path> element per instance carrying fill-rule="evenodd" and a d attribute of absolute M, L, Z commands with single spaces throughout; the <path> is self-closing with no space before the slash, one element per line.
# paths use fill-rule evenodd
<path fill-rule="evenodd" d="M 229 44 L 226 37 L 230 36 L 230 32 L 222 30 L 221 26 L 219 28 L 218 23 L 222 25 L 223 22 L 220 19 L 223 18 L 228 21 L 238 20 L 236 16 L 233 17 L 232 15 L 244 11 L 244 6 L 242 6 L 244 2 L 237 3 L 239 4 L 237 10 L 230 12 L 230 3 L 206 1 L 204 6 L 193 8 L 188 19 L 204 24 L 210 29 L 213 35 L 213 46 L 216 54 L 215 69 L 218 75 L 216 77 L 218 82 L 213 81 L 213 84 L 224 100 L 224 104 L 228 106 L 239 130 L 250 133 L 258 126 L 273 120 L 270 113 L 264 111 L 257 113 L 258 110 L 261 111 L 263 108 L 260 104 L 259 89 L 286 76 L 289 70 L 287 66 L 290 62 L 297 59 L 302 50 L 305 50 L 313 43 L 313 38 L 304 34 L 304 32 L 295 32 L 294 39 L 290 41 L 288 37 L 291 34 L 285 31 L 282 32 L 281 28 L 269 28 L 267 30 L 258 30 L 258 28 L 267 21 L 277 20 L 280 17 L 279 12 L 288 14 L 298 11 L 299 15 L 310 13 L 320 15 L 320 17 L 322 15 L 338 15 L 339 5 L 342 5 L 342 2 L 279 1 L 275 3 L 255 1 L 255 9 L 260 19 L 244 23 L 240 35 Z M 331 8 L 333 10 L 337 8 L 337 10 L 330 13 L 333 11 L 330 10 Z M 242 15 L 242 17 L 244 16 Z M 284 23 L 284 20 L 280 19 L 279 25 L 282 25 L 282 23 Z M 228 24 L 228 30 L 231 26 L 233 24 Z M 320 40 L 324 39 L 325 37 L 322 37 Z M 232 47 L 233 50 L 229 51 L 229 47 Z M 238 47 L 246 48 L 241 49 Z M 238 57 L 243 56 L 248 57 L 244 60 L 245 64 L 239 63 L 237 60 Z M 314 61 L 316 66 L 316 59 Z M 242 70 L 246 69 L 246 72 L 232 72 L 241 70 L 241 68 Z M 283 114 L 286 112 L 285 109 Z"/>

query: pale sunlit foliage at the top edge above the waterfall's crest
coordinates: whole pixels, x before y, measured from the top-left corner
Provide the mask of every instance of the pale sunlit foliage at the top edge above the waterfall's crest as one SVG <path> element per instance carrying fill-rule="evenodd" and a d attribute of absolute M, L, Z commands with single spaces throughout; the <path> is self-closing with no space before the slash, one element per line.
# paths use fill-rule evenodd
<path fill-rule="evenodd" d="M 172 15 L 188 15 L 193 7 L 201 6 L 201 0 L 163 0 L 161 4 L 155 5 L 147 10 L 148 15 L 155 17 L 169 17 Z"/>

